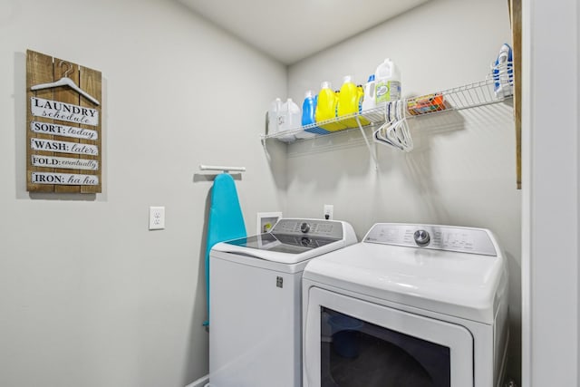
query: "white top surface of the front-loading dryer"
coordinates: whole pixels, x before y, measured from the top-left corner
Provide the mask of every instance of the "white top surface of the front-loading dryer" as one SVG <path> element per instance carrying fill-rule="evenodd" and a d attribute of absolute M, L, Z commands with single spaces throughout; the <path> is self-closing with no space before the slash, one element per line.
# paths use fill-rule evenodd
<path fill-rule="evenodd" d="M 494 239 L 492 245 L 496 256 L 382 244 L 365 238 L 310 261 L 303 278 L 320 287 L 330 285 L 492 324 L 498 302 L 507 295 L 504 258 Z"/>

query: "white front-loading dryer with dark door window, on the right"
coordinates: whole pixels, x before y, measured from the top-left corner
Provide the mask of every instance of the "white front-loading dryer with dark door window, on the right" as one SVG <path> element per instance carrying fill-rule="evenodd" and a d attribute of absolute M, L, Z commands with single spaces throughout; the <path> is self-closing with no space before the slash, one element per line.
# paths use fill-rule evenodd
<path fill-rule="evenodd" d="M 497 387 L 507 268 L 482 228 L 381 223 L 303 276 L 304 387 Z"/>

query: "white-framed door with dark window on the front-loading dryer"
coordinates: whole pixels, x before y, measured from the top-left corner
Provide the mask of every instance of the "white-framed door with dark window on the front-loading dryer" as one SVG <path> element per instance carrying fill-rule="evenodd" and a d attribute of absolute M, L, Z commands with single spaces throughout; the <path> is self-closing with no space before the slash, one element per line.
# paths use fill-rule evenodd
<path fill-rule="evenodd" d="M 463 326 L 308 292 L 304 387 L 473 387 L 473 337 Z"/>

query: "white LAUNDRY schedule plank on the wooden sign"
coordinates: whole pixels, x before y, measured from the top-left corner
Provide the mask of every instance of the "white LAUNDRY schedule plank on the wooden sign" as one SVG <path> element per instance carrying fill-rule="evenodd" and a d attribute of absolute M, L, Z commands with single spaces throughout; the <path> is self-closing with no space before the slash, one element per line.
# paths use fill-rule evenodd
<path fill-rule="evenodd" d="M 65 103 L 43 98 L 31 97 L 30 108 L 34 116 L 53 120 L 99 125 L 99 111 L 72 103 Z"/>

